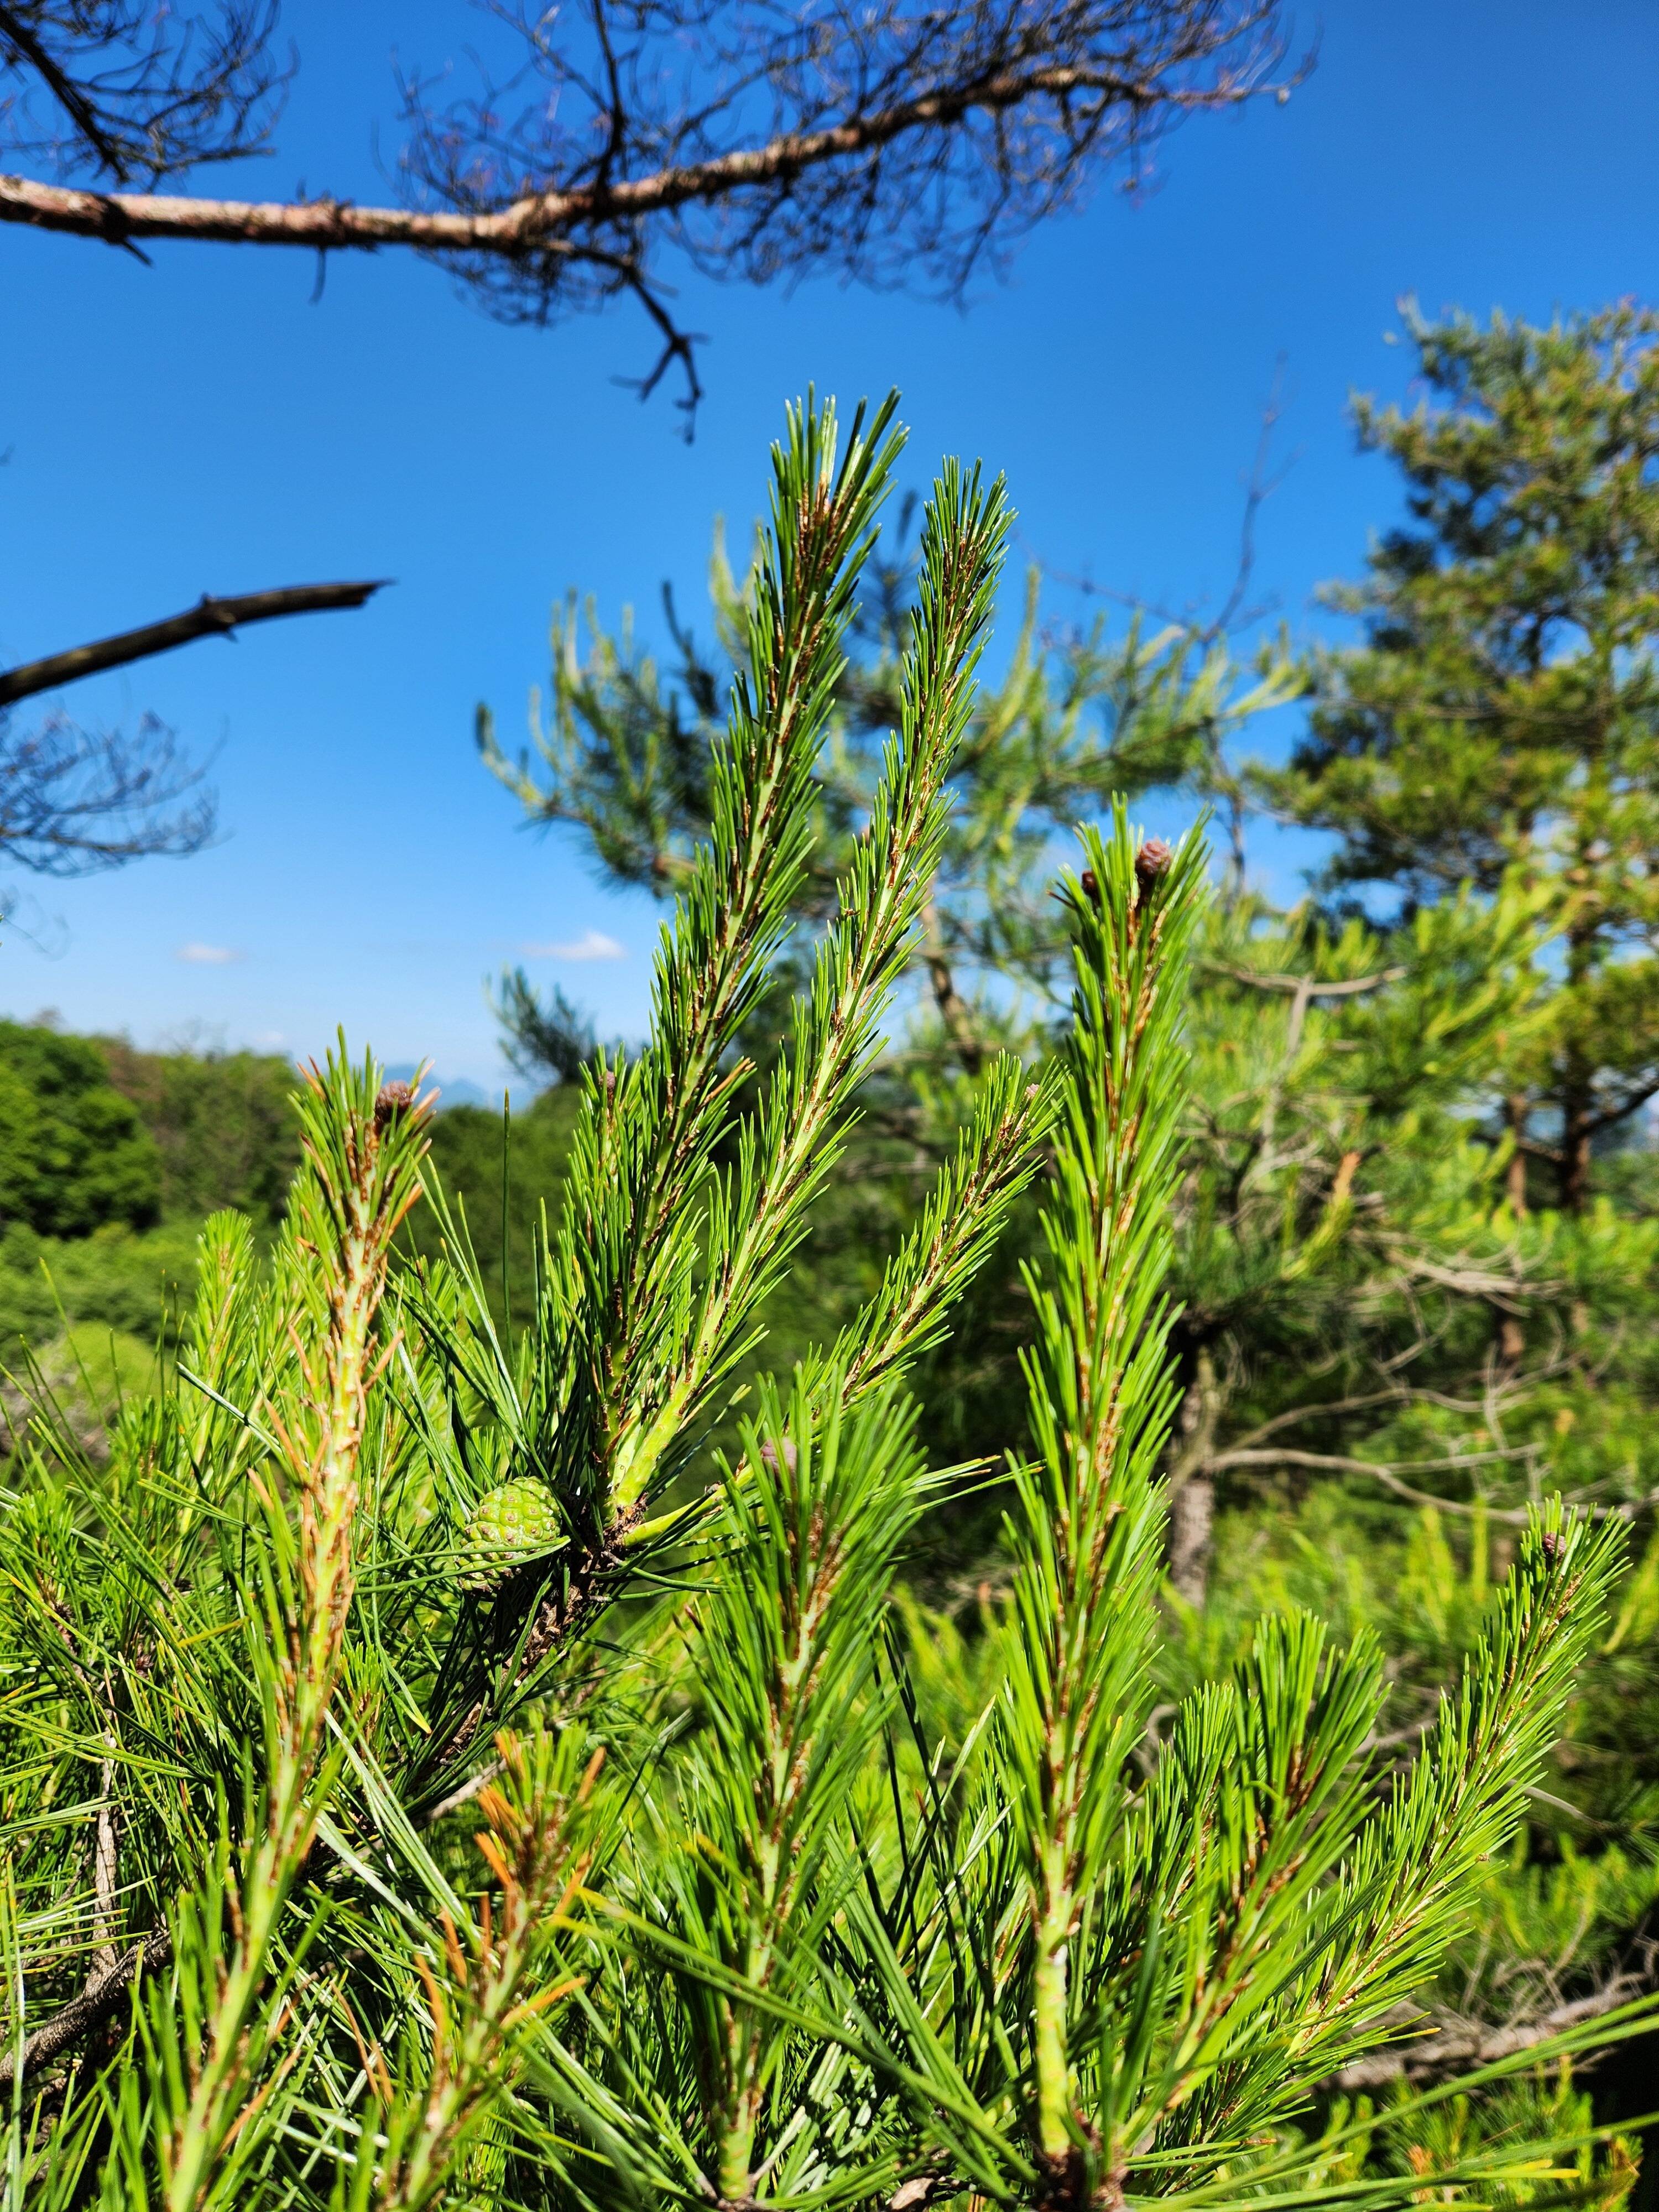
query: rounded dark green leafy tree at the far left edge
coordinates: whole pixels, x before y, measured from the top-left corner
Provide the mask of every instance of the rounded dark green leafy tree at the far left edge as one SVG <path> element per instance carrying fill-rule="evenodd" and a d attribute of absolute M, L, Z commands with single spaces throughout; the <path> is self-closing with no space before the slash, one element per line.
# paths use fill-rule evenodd
<path fill-rule="evenodd" d="M 0 1230 L 148 1228 L 161 1161 L 86 1037 L 0 1022 Z"/>

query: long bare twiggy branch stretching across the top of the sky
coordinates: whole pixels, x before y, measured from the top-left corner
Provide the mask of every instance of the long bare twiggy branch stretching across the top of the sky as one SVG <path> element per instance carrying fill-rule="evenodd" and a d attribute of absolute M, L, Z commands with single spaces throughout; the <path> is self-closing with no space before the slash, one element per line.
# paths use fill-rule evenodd
<path fill-rule="evenodd" d="M 53 15 L 66 4 L 29 0 Z M 131 13 L 137 0 L 102 4 Z M 1139 179 L 1183 117 L 1283 95 L 1301 77 L 1276 75 L 1281 0 L 920 11 L 902 0 L 593 0 L 580 20 L 489 0 L 489 11 L 524 62 L 460 102 L 438 93 L 447 77 L 403 82 L 403 206 L 106 192 L 9 175 L 0 221 L 133 250 L 153 239 L 323 257 L 398 246 L 447 259 L 507 321 L 633 296 L 664 341 L 644 387 L 679 367 L 690 407 L 695 341 L 666 305 L 657 243 L 721 279 L 834 268 L 960 299 L 980 268 L 998 268 L 1018 237 L 1106 170 Z M 228 7 L 232 18 L 252 22 L 252 0 Z M 27 71 L 31 55 L 9 51 Z M 33 71 L 49 95 L 53 66 L 64 77 L 58 104 L 69 102 L 80 133 L 80 168 L 135 166 L 113 142 L 100 146 L 102 111 L 75 111 L 80 80 L 60 60 L 33 58 Z M 177 164 L 148 166 L 161 175 Z"/>

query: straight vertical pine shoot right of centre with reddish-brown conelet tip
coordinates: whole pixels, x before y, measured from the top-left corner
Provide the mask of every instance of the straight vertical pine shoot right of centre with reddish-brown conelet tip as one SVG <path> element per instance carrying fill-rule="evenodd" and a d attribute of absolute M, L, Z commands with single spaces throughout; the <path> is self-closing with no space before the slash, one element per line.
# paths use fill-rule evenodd
<path fill-rule="evenodd" d="M 1037 1467 L 1015 1471 L 1020 1566 L 998 1752 L 1022 1854 L 1033 1944 L 1031 2130 L 1055 2197 L 1082 2188 L 1068 1973 L 1084 1900 L 1126 1812 L 1139 1734 L 1152 1577 L 1164 1526 L 1155 1464 L 1172 1416 L 1166 1371 L 1170 1199 L 1183 1102 L 1181 975 L 1203 854 L 1086 836 L 1068 880 L 1077 927 L 1075 1035 L 1055 1130 L 1048 1267 L 1029 1272 Z"/>

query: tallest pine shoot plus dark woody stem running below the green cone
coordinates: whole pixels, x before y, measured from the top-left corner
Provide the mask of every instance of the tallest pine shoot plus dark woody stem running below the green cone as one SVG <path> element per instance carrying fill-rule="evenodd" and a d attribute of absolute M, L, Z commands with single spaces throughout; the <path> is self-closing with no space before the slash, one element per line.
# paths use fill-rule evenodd
<path fill-rule="evenodd" d="M 502 1723 L 524 1683 L 626 1579 L 624 1546 L 664 1455 L 710 1371 L 734 1356 L 730 1272 L 721 1285 L 706 1267 L 706 1252 L 721 1252 L 732 1225 L 714 1157 L 748 1073 L 737 1037 L 792 927 L 807 865 L 812 770 L 858 571 L 902 447 L 894 407 L 889 396 L 869 422 L 858 409 L 838 456 L 834 407 L 818 409 L 810 396 L 772 449 L 772 526 L 748 604 L 748 668 L 732 686 L 728 739 L 710 774 L 712 836 L 697 849 L 657 956 L 653 1037 L 635 1062 L 599 1055 L 584 1071 L 529 1371 L 515 1378 L 495 1358 L 480 1376 L 522 1449 L 522 1471 L 551 1482 L 575 1542 L 504 1650 L 458 1644 L 453 1701 L 440 1705 L 418 1759 L 422 1783 L 453 1787 L 467 1747 Z M 752 1139 L 743 1146 L 748 1203 Z M 482 1298 L 473 1303 L 487 1314 Z M 449 1316 L 422 1307 L 422 1325 L 478 1371 Z"/>

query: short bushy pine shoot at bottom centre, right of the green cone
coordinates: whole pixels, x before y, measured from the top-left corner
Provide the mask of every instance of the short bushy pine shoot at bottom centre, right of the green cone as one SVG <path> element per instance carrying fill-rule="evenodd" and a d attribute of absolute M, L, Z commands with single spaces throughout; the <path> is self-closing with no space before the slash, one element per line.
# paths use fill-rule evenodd
<path fill-rule="evenodd" d="M 810 2128 L 779 2095 L 790 2013 L 818 2008 L 821 1962 L 858 1880 L 836 1849 L 876 1752 L 889 1690 L 878 1677 L 883 1599 L 925 1498 L 914 1409 L 878 1394 L 843 1416 L 796 1371 L 770 1385 L 728 1473 L 723 1544 L 699 1601 L 692 1668 L 706 1736 L 686 1776 L 688 1820 L 666 1838 L 646 1951 L 684 1991 L 701 2084 L 688 2150 L 723 2205 L 781 2181 Z M 858 2130 L 865 2132 L 865 2130 Z M 854 2170 L 863 2150 L 838 2146 Z M 885 2161 L 880 2161 L 885 2163 Z"/>

